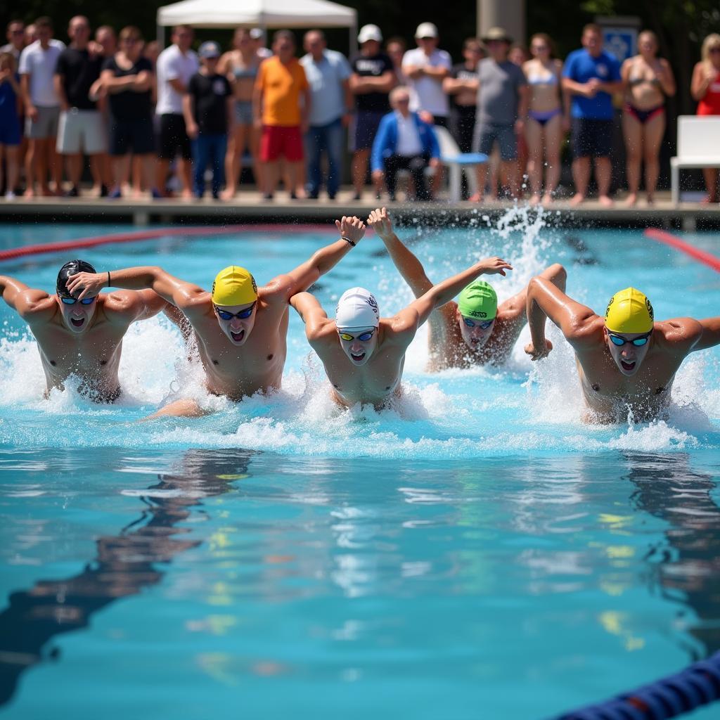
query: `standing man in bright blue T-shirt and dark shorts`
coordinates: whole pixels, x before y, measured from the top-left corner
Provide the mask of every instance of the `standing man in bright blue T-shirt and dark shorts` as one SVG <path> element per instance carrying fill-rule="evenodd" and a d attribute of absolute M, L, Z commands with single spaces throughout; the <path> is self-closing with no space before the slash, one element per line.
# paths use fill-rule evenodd
<path fill-rule="evenodd" d="M 582 29 L 582 49 L 565 60 L 562 86 L 572 96 L 572 179 L 575 195 L 570 204 L 578 205 L 588 194 L 590 158 L 595 158 L 598 201 L 612 207 L 610 153 L 613 137 L 612 93 L 622 88 L 618 61 L 603 50 L 599 25 Z"/>

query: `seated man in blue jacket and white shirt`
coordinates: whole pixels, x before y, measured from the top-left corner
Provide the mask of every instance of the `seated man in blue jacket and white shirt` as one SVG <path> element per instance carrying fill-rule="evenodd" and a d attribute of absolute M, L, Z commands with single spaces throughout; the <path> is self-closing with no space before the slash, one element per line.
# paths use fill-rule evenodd
<path fill-rule="evenodd" d="M 397 171 L 409 170 L 415 181 L 415 197 L 430 200 L 425 168 L 438 171 L 440 148 L 433 126 L 410 112 L 410 89 L 398 86 L 390 91 L 389 112 L 380 122 L 372 145 L 372 174 L 377 183 L 384 179 L 390 200 L 395 201 Z"/>

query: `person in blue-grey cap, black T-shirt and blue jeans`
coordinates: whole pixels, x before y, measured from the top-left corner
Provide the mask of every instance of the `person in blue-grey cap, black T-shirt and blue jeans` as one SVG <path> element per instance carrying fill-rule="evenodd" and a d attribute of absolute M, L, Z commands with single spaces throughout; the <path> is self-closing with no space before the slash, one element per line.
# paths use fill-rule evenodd
<path fill-rule="evenodd" d="M 223 163 L 228 149 L 228 130 L 233 127 L 233 90 L 225 75 L 217 72 L 220 45 L 200 45 L 200 69 L 190 78 L 183 97 L 187 133 L 192 139 L 195 197 L 205 192 L 205 169 L 212 165 L 212 198 L 220 197 Z"/>

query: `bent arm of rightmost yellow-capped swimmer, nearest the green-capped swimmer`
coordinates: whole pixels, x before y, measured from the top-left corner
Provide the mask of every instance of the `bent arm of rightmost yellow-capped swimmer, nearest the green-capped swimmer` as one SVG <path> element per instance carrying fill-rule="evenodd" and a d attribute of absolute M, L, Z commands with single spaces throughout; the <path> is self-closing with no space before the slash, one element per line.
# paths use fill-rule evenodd
<path fill-rule="evenodd" d="M 545 338 L 545 318 L 550 318 L 562 330 L 573 347 L 595 340 L 592 320 L 598 315 L 590 307 L 572 300 L 545 277 L 537 276 L 529 282 L 526 312 L 531 343 L 525 351 L 532 360 L 544 358 L 552 350 L 552 343 Z"/>

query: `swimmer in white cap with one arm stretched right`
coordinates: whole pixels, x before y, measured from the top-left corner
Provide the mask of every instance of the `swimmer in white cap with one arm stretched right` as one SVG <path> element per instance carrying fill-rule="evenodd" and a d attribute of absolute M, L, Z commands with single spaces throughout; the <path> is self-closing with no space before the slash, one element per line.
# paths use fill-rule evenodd
<path fill-rule="evenodd" d="M 402 393 L 400 380 L 405 352 L 433 310 L 451 300 L 478 275 L 512 270 L 500 258 L 487 258 L 433 285 L 394 318 L 380 318 L 377 301 L 368 290 L 354 287 L 338 301 L 330 320 L 309 292 L 294 295 L 290 305 L 305 323 L 305 335 L 320 356 L 333 385 L 333 400 L 345 408 L 356 402 L 380 408 Z"/>

